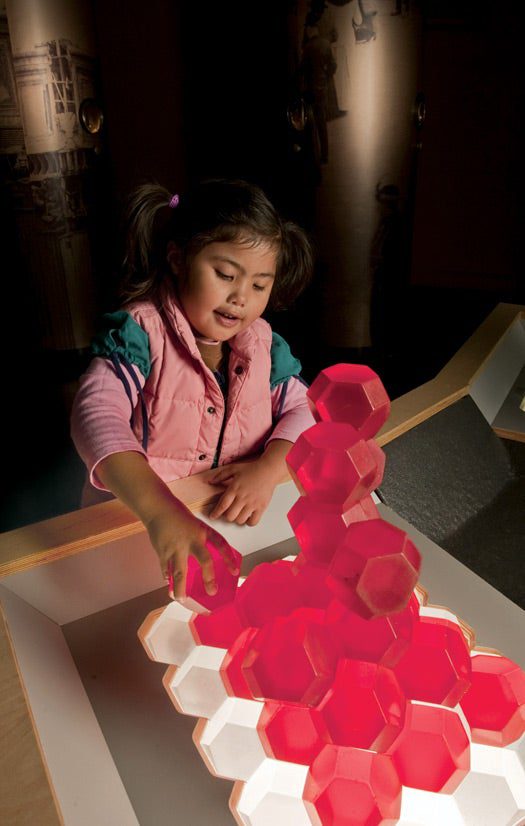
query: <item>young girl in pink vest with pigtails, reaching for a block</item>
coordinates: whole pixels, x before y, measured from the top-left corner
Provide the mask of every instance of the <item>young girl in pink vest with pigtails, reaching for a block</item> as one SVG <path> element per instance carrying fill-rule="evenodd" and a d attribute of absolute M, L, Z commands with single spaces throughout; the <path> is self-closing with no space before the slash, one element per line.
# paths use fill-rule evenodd
<path fill-rule="evenodd" d="M 166 482 L 217 468 L 208 479 L 223 492 L 211 517 L 259 521 L 291 443 L 314 423 L 300 363 L 261 315 L 304 288 L 311 249 L 243 181 L 208 181 L 181 197 L 142 186 L 127 227 L 124 307 L 94 341 L 72 436 L 91 485 L 144 523 L 175 597 L 188 554 L 215 593 L 205 544 L 232 569 L 228 545 Z"/>

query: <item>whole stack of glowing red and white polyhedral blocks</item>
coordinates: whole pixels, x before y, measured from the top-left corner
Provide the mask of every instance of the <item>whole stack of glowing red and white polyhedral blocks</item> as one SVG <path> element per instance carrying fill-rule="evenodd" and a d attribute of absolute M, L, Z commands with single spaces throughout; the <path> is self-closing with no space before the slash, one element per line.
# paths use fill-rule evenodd
<path fill-rule="evenodd" d="M 334 365 L 308 396 L 317 424 L 287 458 L 299 555 L 237 582 L 216 553 L 214 597 L 190 561 L 187 605 L 148 615 L 144 648 L 242 826 L 518 826 L 525 673 L 427 604 L 417 548 L 377 512 L 379 378 Z"/>

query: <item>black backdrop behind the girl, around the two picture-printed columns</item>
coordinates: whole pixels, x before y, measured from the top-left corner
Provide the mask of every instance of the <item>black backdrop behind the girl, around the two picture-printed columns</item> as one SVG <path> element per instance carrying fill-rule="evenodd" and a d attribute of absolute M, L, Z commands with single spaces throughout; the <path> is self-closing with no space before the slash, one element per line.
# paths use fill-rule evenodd
<path fill-rule="evenodd" d="M 525 303 L 518 4 L 504 11 L 470 0 L 420 6 L 419 86 L 428 116 L 422 148 L 411 148 L 414 189 L 403 242 L 400 248 L 394 239 L 383 262 L 372 347 L 334 350 L 320 340 L 319 272 L 295 308 L 270 319 L 301 358 L 307 380 L 330 363 L 364 361 L 392 398 L 433 378 L 500 301 Z M 286 0 L 93 0 L 105 112 L 94 182 L 101 310 L 114 301 L 119 210 L 144 180 L 175 192 L 207 175 L 245 177 L 315 242 L 312 185 L 291 158 L 286 120 L 290 11 Z M 86 356 L 41 347 L 8 201 L 2 207 L 8 275 L 0 530 L 8 530 L 78 505 L 83 469 L 68 416 Z M 436 239 L 439 266 L 427 253 Z"/>

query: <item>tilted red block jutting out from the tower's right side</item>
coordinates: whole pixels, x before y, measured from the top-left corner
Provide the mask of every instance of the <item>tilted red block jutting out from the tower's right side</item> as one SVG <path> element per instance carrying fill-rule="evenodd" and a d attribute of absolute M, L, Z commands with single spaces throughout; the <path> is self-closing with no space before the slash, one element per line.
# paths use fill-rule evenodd
<path fill-rule="evenodd" d="M 327 584 L 363 617 L 385 616 L 407 606 L 420 567 L 420 553 L 404 531 L 384 519 L 370 519 L 348 527 Z"/>

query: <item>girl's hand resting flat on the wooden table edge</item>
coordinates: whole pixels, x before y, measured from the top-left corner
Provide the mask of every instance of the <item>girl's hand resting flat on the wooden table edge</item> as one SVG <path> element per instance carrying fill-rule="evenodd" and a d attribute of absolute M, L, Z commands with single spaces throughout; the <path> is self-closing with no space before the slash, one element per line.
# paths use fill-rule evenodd
<path fill-rule="evenodd" d="M 285 456 L 290 442 L 275 439 L 258 459 L 235 462 L 216 470 L 209 477 L 222 485 L 224 493 L 210 513 L 237 525 L 257 525 L 268 507 L 276 485 L 287 476 Z"/>

